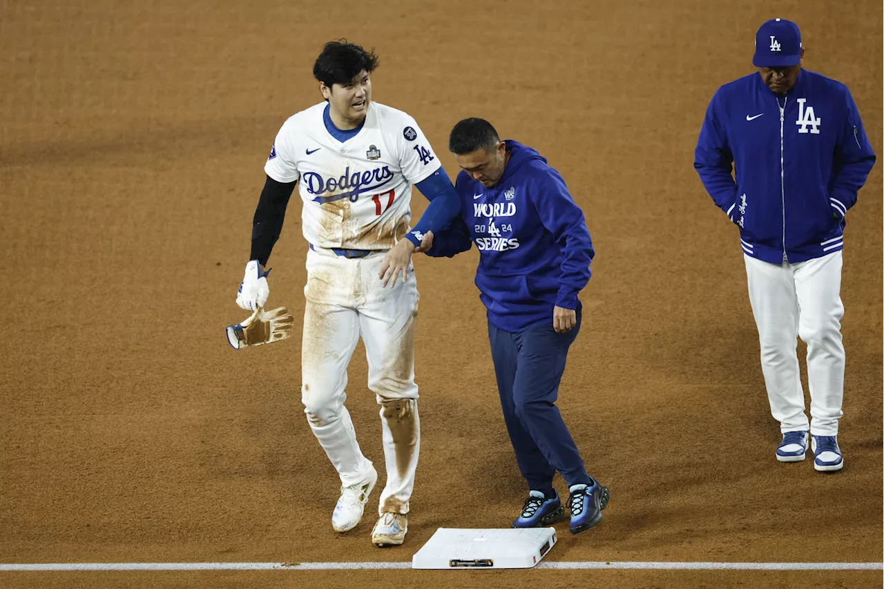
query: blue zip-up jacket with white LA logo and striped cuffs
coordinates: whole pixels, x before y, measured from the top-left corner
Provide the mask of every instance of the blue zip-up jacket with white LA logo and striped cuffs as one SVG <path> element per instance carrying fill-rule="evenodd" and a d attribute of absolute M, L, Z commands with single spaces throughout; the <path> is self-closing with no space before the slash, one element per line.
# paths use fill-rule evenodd
<path fill-rule="evenodd" d="M 772 264 L 842 249 L 844 216 L 874 163 L 850 90 L 807 70 L 785 95 L 759 73 L 719 88 L 694 156 L 743 251 Z"/>

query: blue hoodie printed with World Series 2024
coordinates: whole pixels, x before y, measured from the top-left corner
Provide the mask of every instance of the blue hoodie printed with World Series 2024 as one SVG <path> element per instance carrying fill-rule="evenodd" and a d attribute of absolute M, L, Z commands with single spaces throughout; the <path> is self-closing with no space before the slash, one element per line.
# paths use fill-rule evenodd
<path fill-rule="evenodd" d="M 590 279 L 595 251 L 583 210 L 565 180 L 534 149 L 506 142 L 510 154 L 500 180 L 484 187 L 461 172 L 455 188 L 461 216 L 433 233 L 429 256 L 479 250 L 476 287 L 498 329 L 518 333 L 552 322 L 552 307 L 576 309 Z"/>

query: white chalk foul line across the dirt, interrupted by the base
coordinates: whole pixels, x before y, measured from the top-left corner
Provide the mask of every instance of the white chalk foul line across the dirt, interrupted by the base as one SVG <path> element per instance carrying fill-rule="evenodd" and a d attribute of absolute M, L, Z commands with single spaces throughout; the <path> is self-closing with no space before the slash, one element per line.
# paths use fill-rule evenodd
<path fill-rule="evenodd" d="M 884 562 L 540 562 L 536 569 L 884 570 Z M 61 570 L 390 570 L 411 562 L 61 562 L 0 564 L 0 571 Z"/>

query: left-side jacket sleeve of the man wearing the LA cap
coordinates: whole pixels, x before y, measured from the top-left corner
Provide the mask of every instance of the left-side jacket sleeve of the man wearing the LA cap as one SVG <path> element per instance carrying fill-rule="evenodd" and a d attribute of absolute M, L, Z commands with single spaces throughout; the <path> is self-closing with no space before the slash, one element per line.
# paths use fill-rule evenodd
<path fill-rule="evenodd" d="M 717 115 L 719 100 L 719 94 L 716 93 L 706 109 L 706 116 L 697 139 L 697 149 L 694 151 L 694 168 L 700 175 L 700 180 L 703 180 L 706 192 L 713 197 L 719 209 L 733 221 L 739 190 L 731 175 L 734 169 L 734 154 L 728 146 L 727 136 L 721 128 Z"/>

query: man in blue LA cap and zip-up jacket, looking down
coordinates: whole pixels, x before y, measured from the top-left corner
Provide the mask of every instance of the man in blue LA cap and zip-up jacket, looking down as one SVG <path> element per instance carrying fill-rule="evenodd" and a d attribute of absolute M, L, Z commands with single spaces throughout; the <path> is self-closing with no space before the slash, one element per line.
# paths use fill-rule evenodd
<path fill-rule="evenodd" d="M 844 218 L 875 162 L 842 83 L 802 69 L 795 23 L 768 20 L 755 37 L 758 73 L 719 88 L 694 166 L 715 204 L 740 227 L 761 368 L 782 440 L 781 462 L 841 470 Z M 731 175 L 736 166 L 735 178 Z M 811 417 L 804 414 L 796 337 L 807 343 Z"/>

